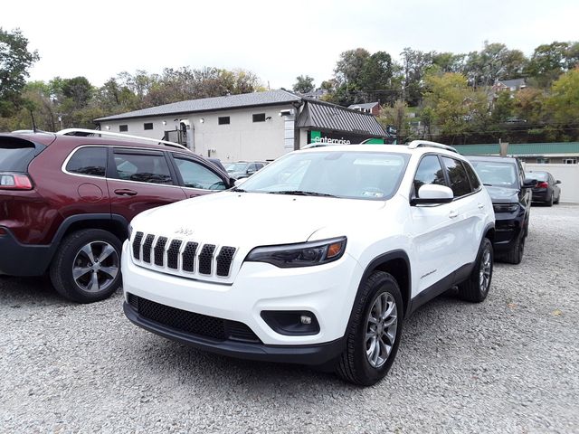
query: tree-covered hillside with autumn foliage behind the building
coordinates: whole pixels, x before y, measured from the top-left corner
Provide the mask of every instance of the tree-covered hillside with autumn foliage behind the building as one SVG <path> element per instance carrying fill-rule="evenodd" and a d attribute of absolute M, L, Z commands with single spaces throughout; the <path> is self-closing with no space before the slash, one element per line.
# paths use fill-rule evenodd
<path fill-rule="evenodd" d="M 322 99 L 344 106 L 378 101 L 381 122 L 396 127 L 401 140 L 579 140 L 579 42 L 539 45 L 528 57 L 503 43 L 485 42 L 482 50 L 468 53 L 405 48 L 397 58 L 347 50 L 332 77 L 316 86 L 302 74 L 290 88 L 318 90 Z M 252 71 L 188 66 L 122 71 L 102 86 L 86 77 L 27 82 L 38 59 L 19 30 L 0 28 L 0 131 L 30 128 L 32 117 L 47 131 L 93 127 L 93 119 L 111 114 L 265 90 Z M 516 80 L 515 89 L 506 80 Z"/>

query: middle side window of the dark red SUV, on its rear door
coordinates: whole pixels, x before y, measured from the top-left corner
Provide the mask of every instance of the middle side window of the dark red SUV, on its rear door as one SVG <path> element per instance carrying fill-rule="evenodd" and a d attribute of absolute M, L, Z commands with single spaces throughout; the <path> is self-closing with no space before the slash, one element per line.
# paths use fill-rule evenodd
<path fill-rule="evenodd" d="M 119 179 L 139 183 L 174 184 L 162 152 L 131 153 L 115 150 L 114 160 Z"/>

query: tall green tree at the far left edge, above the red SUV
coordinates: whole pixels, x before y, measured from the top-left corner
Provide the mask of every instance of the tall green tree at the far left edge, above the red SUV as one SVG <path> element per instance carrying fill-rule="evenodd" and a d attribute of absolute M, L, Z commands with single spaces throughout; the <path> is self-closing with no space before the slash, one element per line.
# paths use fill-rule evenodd
<path fill-rule="evenodd" d="M 28 39 L 19 29 L 12 32 L 0 27 L 0 116 L 10 116 L 22 104 L 28 69 L 40 59 L 28 51 Z"/>

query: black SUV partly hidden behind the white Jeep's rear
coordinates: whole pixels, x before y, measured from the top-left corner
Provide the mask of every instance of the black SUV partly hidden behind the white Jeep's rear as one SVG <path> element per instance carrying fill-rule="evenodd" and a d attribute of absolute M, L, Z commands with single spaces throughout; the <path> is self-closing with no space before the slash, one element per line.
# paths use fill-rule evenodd
<path fill-rule="evenodd" d="M 496 217 L 495 257 L 511 264 L 520 263 L 525 250 L 535 180 L 528 179 L 517 158 L 470 156 L 482 184 L 492 198 Z"/>

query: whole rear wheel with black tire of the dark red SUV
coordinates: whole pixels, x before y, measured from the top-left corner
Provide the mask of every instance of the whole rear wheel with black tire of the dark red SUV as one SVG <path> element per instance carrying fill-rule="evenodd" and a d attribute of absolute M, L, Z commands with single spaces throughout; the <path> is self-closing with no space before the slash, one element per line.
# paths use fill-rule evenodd
<path fill-rule="evenodd" d="M 50 276 L 53 287 L 62 297 L 78 303 L 92 303 L 109 297 L 121 284 L 120 250 L 119 239 L 109 231 L 86 229 L 72 232 L 62 240 L 52 259 Z M 108 255 L 105 257 L 105 254 Z M 73 269 L 79 273 L 86 272 L 75 277 Z"/>

